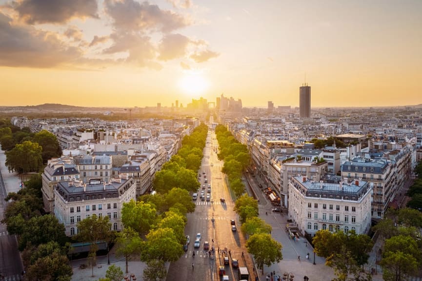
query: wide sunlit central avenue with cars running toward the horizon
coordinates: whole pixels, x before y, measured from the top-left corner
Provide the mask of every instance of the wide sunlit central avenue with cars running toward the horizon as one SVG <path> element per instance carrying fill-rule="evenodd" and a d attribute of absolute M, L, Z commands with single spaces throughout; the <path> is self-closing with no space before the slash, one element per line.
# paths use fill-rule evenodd
<path fill-rule="evenodd" d="M 214 147 L 218 147 L 218 142 L 215 140 L 214 132 L 210 131 L 204 148 L 204 157 L 199 174 L 201 174 L 201 186 L 203 184 L 205 186 L 211 185 L 211 200 L 201 201 L 198 198 L 195 201 L 195 212 L 187 215 L 188 222 L 185 234 L 190 236 L 188 251 L 179 261 L 171 263 L 167 274 L 168 281 L 220 280 L 218 267 L 223 266 L 223 261 L 222 255 L 218 254 L 219 249 L 227 248 L 227 252 L 230 250 L 232 257 L 239 260 L 240 266 L 244 265 L 241 253 L 246 253 L 245 238 L 240 229 L 238 231 L 232 231 L 231 229 L 230 220 L 235 219 L 236 226 L 239 227 L 240 222 L 233 211 L 234 200 L 229 194 L 226 178 L 221 173 L 223 162 L 217 159 Z M 208 181 L 206 183 L 204 182 L 203 172 L 205 172 Z M 220 201 L 221 198 L 225 199 L 224 203 Z M 214 221 L 212 221 L 213 215 Z M 201 233 L 200 248 L 194 248 L 197 233 Z M 209 257 L 207 251 L 203 250 L 204 241 L 208 241 L 211 247 L 214 246 L 216 255 L 213 259 Z M 195 251 L 195 257 L 193 257 L 193 251 Z M 192 263 L 194 263 L 194 268 L 192 268 Z M 229 276 L 229 280 L 238 279 L 238 270 L 233 269 L 231 263 L 225 266 L 225 272 Z"/>

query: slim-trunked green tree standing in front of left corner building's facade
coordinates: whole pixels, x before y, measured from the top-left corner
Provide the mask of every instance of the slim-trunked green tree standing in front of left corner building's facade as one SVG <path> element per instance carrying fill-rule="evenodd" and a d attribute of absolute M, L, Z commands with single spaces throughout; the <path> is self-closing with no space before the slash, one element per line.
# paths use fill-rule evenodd
<path fill-rule="evenodd" d="M 79 234 L 76 239 L 80 242 L 89 242 L 89 257 L 91 257 L 91 271 L 94 276 L 94 264 L 96 264 L 96 253 L 98 251 L 98 242 L 109 241 L 112 235 L 111 222 L 108 217 L 98 217 L 96 214 L 78 222 Z"/>

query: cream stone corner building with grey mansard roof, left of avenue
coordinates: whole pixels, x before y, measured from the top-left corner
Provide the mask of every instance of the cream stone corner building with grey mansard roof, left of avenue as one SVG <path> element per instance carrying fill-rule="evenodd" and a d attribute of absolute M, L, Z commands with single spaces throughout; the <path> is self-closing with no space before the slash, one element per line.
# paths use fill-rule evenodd
<path fill-rule="evenodd" d="M 127 178 L 107 183 L 99 179 L 59 182 L 54 194 L 54 215 L 64 224 L 66 236 L 78 234 L 78 222 L 94 214 L 108 216 L 112 229 L 121 231 L 121 208 L 123 203 L 136 200 L 136 182 Z"/>

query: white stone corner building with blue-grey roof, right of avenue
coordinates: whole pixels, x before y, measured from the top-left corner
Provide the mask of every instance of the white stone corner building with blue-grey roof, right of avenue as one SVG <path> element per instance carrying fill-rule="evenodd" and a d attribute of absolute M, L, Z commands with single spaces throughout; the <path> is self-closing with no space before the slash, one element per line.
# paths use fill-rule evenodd
<path fill-rule="evenodd" d="M 368 233 L 371 227 L 372 188 L 366 181 L 309 181 L 293 177 L 289 182 L 289 219 L 303 236 L 320 229 Z M 336 183 L 337 182 L 337 183 Z"/>

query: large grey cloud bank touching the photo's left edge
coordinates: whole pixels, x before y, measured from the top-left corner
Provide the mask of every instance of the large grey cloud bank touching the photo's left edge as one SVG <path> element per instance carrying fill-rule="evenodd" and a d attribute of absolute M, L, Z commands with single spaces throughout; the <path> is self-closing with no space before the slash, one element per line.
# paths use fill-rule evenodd
<path fill-rule="evenodd" d="M 12 19 L 0 13 L 0 65 L 53 67 L 81 57 L 80 48 L 66 46 L 58 34 L 32 26 L 12 25 Z"/>

